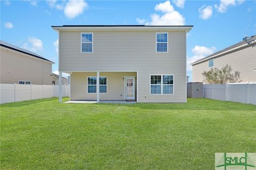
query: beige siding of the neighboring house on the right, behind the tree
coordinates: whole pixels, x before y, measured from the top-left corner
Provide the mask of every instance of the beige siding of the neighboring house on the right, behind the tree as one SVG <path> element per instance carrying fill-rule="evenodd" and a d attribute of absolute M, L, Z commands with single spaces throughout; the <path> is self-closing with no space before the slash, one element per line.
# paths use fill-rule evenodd
<path fill-rule="evenodd" d="M 193 82 L 203 82 L 204 71 L 209 71 L 208 61 L 193 65 Z M 221 69 L 225 65 L 230 65 L 233 71 L 240 72 L 242 82 L 256 82 L 256 47 L 250 45 L 237 49 L 234 52 L 221 55 L 213 59 L 213 67 Z"/>

